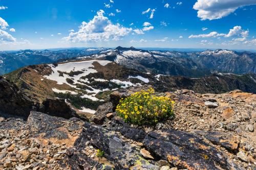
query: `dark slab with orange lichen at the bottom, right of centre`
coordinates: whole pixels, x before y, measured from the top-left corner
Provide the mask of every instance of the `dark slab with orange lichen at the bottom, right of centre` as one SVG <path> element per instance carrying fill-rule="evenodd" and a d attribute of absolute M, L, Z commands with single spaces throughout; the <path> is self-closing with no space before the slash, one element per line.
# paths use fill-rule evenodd
<path fill-rule="evenodd" d="M 182 169 L 230 169 L 222 152 L 193 133 L 172 129 L 153 131 L 143 144 L 160 159 Z"/>

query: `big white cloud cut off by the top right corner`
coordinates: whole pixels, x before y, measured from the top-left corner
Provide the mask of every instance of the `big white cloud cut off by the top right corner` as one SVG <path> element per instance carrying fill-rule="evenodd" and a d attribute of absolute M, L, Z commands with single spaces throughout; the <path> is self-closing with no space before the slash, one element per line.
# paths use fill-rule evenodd
<path fill-rule="evenodd" d="M 194 9 L 202 20 L 220 19 L 240 7 L 254 5 L 255 0 L 197 0 Z"/>

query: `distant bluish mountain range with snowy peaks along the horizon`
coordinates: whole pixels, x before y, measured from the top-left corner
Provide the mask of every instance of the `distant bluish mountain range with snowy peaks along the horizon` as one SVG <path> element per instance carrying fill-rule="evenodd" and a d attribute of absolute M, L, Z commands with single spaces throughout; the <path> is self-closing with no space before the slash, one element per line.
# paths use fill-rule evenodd
<path fill-rule="evenodd" d="M 25 50 L 0 53 L 0 75 L 17 68 L 42 63 L 104 58 L 116 63 L 154 74 L 204 77 L 216 72 L 256 73 L 256 53 L 229 50 L 203 52 L 146 51 L 118 46 L 113 49 L 87 48 L 59 51 Z"/>

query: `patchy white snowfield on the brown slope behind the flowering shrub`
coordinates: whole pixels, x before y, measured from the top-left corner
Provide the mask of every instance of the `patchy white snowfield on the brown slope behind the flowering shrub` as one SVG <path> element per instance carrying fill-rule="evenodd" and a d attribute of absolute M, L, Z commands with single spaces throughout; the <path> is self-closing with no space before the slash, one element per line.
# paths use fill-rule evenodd
<path fill-rule="evenodd" d="M 136 52 L 137 53 L 137 52 Z M 141 52 L 139 52 L 141 53 Z M 134 54 L 134 53 L 132 53 Z M 147 53 L 148 54 L 148 53 Z M 145 54 L 145 55 L 147 55 Z M 123 57 L 123 56 L 122 56 Z M 125 59 L 125 58 L 123 58 Z M 79 62 L 68 62 L 68 63 L 63 63 L 63 64 L 58 64 L 57 66 L 54 66 L 53 64 L 50 64 L 49 66 L 53 70 L 51 75 L 49 76 L 44 76 L 44 78 L 52 81 L 56 81 L 57 84 L 62 85 L 62 84 L 67 84 L 78 91 L 81 91 L 83 94 L 80 96 L 81 98 L 87 98 L 92 101 L 100 101 L 95 97 L 95 95 L 99 92 L 102 91 L 108 91 L 110 89 L 105 88 L 105 89 L 97 89 L 95 86 L 91 86 L 91 82 L 88 80 L 88 78 L 84 79 L 84 76 L 89 75 L 90 73 L 96 73 L 97 70 L 94 69 L 94 62 L 98 62 L 100 65 L 105 66 L 106 64 L 111 63 L 111 61 L 107 60 L 88 60 L 88 61 L 79 61 Z M 74 74 L 71 74 L 71 71 L 74 72 Z M 80 71 L 80 72 L 75 72 L 75 71 Z M 81 77 L 83 77 L 81 79 Z M 150 82 L 147 78 L 144 78 L 142 76 L 129 76 L 127 81 L 121 81 L 117 79 L 112 79 L 112 80 L 105 80 L 105 79 L 100 79 L 100 78 L 92 78 L 94 79 L 95 82 L 113 82 L 116 84 L 120 84 L 121 87 L 126 88 L 129 86 L 136 86 L 136 85 L 141 85 L 140 83 L 133 84 L 132 82 L 129 81 L 130 78 L 136 78 L 144 83 Z M 73 81 L 74 83 L 70 84 L 67 82 L 68 81 Z M 42 79 L 41 79 L 42 80 Z M 88 86 L 86 89 L 80 89 L 77 85 L 85 85 Z M 58 93 L 68 93 L 70 92 L 71 94 L 78 94 L 77 91 L 70 91 L 70 90 L 59 90 L 57 88 L 52 88 L 54 92 Z"/>

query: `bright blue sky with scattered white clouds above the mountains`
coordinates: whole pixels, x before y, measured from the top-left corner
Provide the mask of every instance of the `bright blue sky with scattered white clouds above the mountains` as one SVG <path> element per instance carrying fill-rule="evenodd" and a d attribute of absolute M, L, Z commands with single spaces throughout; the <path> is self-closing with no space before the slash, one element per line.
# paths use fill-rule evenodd
<path fill-rule="evenodd" d="M 256 0 L 0 1 L 0 50 L 175 47 L 256 50 Z"/>

